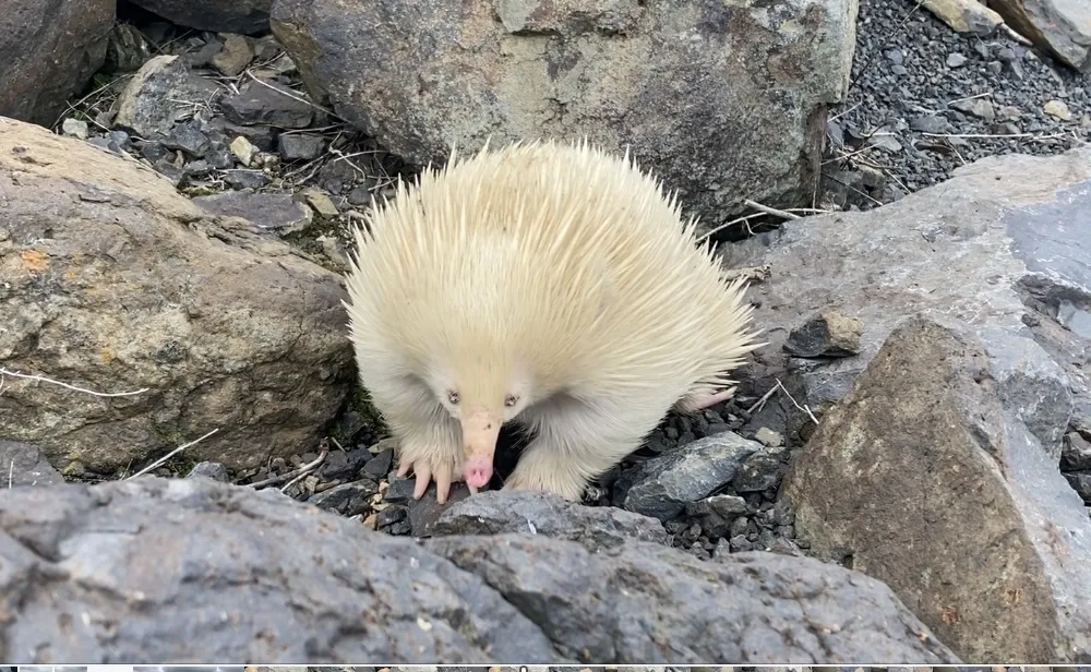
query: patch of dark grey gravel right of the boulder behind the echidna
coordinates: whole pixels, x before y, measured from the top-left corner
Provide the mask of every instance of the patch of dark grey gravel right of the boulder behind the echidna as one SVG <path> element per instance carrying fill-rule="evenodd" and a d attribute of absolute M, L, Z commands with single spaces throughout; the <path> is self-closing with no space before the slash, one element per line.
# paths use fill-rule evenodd
<path fill-rule="evenodd" d="M 985 156 L 1068 149 L 1091 127 L 1088 84 L 1005 36 L 959 35 L 911 0 L 861 0 L 848 100 L 827 124 L 827 205 L 867 209 Z"/>

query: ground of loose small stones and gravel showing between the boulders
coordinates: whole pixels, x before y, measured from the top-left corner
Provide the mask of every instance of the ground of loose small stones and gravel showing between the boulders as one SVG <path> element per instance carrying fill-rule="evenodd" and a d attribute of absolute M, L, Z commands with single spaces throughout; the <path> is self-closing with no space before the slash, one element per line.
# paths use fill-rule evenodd
<path fill-rule="evenodd" d="M 130 12 L 124 19 L 131 23 L 115 31 L 96 86 L 72 101 L 56 130 L 143 159 L 201 207 L 261 223 L 262 233 L 288 239 L 332 269 L 344 268 L 349 223 L 372 196 L 389 193 L 396 176 L 411 171 L 310 101 L 272 36 L 187 31 Z M 827 124 L 825 207 L 875 207 L 991 154 L 1057 153 L 1086 137 L 1091 125 L 1083 77 L 1003 34 L 958 35 L 910 0 L 863 1 L 856 44 L 849 98 L 831 110 Z M 178 59 L 134 74 L 163 56 Z M 165 105 L 165 94 L 175 104 Z M 165 140 L 142 140 L 142 130 L 151 135 L 156 128 L 169 129 Z M 695 418 L 671 416 L 588 492 L 586 503 L 623 505 L 637 496 L 630 494 L 634 480 L 662 481 L 687 468 L 673 465 L 648 476 L 644 463 L 656 466 L 660 454 L 730 430 L 757 443 L 714 477 L 709 500 L 663 516 L 671 543 L 704 559 L 752 549 L 799 553 L 793 514 L 776 493 L 800 437 L 775 417 L 752 420 L 765 405 L 759 394 Z M 280 488 L 393 535 L 427 533 L 441 507 L 431 493 L 422 502 L 408 496 L 411 480 L 394 478 L 384 435 L 367 406 L 356 405 L 321 446 L 291 458 L 230 477 L 214 464 L 195 468 Z M 518 436 L 507 440 L 501 476 L 517 455 Z M 1075 470 L 1083 466 L 1087 446 L 1077 433 L 1069 445 L 1065 464 Z M 185 473 L 191 467 L 181 455 L 156 472 Z M 1091 495 L 1082 472 L 1069 479 Z M 662 488 L 635 489 L 645 491 Z"/>

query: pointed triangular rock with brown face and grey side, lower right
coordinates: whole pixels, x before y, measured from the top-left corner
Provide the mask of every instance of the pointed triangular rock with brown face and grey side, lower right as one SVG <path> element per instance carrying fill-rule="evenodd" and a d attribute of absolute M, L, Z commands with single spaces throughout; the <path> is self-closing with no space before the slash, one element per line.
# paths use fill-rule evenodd
<path fill-rule="evenodd" d="M 961 658 L 1087 661 L 1091 520 L 952 324 L 900 324 L 823 418 L 783 482 L 796 533 L 889 585 Z"/>

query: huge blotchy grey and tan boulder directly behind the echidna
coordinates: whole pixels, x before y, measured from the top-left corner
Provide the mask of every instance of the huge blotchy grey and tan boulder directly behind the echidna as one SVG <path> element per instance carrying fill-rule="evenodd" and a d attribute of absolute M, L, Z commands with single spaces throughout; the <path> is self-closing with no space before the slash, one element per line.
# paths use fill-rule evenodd
<path fill-rule="evenodd" d="M 492 142 L 628 148 L 714 225 L 804 204 L 842 99 L 856 0 L 277 0 L 312 94 L 423 165 Z"/>

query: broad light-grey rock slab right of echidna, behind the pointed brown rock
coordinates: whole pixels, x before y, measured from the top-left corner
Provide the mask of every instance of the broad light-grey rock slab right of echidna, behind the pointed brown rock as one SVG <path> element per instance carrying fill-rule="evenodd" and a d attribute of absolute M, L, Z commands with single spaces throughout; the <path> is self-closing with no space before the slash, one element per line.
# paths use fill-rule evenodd
<path fill-rule="evenodd" d="M 772 268 L 751 295 L 769 343 L 745 368 L 754 391 L 782 376 L 801 405 L 836 401 L 895 323 L 931 310 L 978 331 L 1005 400 L 1059 453 L 1074 401 L 1077 417 L 1091 408 L 1091 332 L 1069 328 L 1091 304 L 1089 213 L 1091 146 L 1081 146 L 982 159 L 882 211 L 790 221 L 727 250 L 729 265 Z M 826 310 L 863 322 L 860 355 L 783 352 L 791 331 Z"/>

